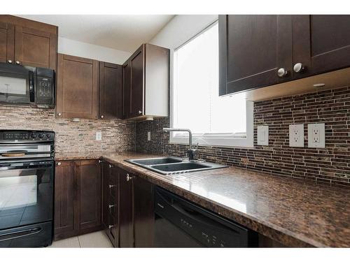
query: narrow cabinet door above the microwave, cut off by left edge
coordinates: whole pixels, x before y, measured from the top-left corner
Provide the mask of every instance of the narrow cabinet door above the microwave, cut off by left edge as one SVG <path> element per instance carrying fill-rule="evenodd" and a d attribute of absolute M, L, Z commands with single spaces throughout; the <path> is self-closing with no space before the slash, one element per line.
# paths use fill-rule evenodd
<path fill-rule="evenodd" d="M 0 62 L 13 63 L 15 54 L 15 26 L 0 22 Z"/>

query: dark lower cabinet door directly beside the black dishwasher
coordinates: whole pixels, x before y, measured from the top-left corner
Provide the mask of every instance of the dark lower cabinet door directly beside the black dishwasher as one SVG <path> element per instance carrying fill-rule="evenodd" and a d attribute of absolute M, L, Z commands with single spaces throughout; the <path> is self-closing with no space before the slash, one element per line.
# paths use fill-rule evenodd
<path fill-rule="evenodd" d="M 134 176 L 135 247 L 153 247 L 153 184 Z"/>

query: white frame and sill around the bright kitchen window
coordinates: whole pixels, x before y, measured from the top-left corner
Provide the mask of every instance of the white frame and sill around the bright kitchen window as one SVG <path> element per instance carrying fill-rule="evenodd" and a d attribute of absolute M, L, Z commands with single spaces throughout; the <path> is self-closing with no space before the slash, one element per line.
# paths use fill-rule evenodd
<path fill-rule="evenodd" d="M 189 38 L 187 41 L 179 45 L 177 48 L 170 50 L 170 127 L 174 127 L 174 74 L 175 74 L 175 66 L 174 66 L 174 52 L 179 50 L 186 43 L 193 41 L 193 39 L 200 36 L 202 32 L 213 27 L 218 20 L 215 20 L 207 27 L 204 27 L 197 34 Z M 230 96 L 230 94 L 228 94 Z M 254 136 L 254 124 L 253 124 L 253 101 L 246 101 L 246 133 L 245 136 L 242 136 L 241 133 L 193 133 L 193 145 L 207 145 L 207 146 L 218 146 L 218 147 L 253 147 L 253 136 Z M 186 128 L 186 126 L 181 126 L 181 128 Z M 188 133 L 174 133 L 170 132 L 169 136 L 170 144 L 183 144 L 188 145 Z"/>

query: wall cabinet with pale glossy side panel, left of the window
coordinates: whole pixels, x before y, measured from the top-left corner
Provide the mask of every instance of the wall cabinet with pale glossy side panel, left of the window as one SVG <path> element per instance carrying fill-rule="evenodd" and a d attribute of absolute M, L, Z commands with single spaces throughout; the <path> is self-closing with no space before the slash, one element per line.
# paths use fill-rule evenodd
<path fill-rule="evenodd" d="M 124 117 L 169 115 L 169 49 L 143 44 L 123 64 Z"/>

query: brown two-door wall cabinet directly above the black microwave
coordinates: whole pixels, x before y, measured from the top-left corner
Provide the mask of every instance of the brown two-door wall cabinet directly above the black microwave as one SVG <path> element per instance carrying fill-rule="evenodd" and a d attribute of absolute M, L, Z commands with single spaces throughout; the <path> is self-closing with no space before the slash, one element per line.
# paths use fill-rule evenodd
<path fill-rule="evenodd" d="M 0 61 L 56 70 L 57 31 L 50 24 L 0 15 Z"/>

